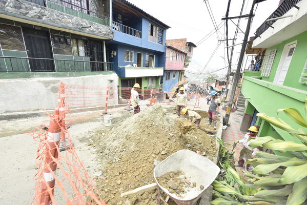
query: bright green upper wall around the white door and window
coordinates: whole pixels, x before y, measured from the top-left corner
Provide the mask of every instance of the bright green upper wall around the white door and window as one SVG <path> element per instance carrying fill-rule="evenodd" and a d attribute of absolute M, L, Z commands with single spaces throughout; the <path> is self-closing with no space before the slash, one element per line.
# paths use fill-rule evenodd
<path fill-rule="evenodd" d="M 269 77 L 262 76 L 262 80 L 273 82 L 274 77 L 279 65 L 279 61 L 282 55 L 282 51 L 285 44 L 289 44 L 291 42 L 294 42 L 297 40 L 297 45 L 295 47 L 291 63 L 289 66 L 289 70 L 286 74 L 286 77 L 284 79 L 283 85 L 289 86 L 292 88 L 297 88 L 300 90 L 307 90 L 307 85 L 304 85 L 302 83 L 299 83 L 299 78 L 302 73 L 303 67 L 305 65 L 305 61 L 307 59 L 307 31 L 296 35 L 292 38 L 289 38 L 288 40 L 285 40 L 284 42 L 277 44 L 271 48 L 267 49 L 267 53 L 272 49 L 277 49 L 274 63 L 271 69 L 271 74 Z"/>

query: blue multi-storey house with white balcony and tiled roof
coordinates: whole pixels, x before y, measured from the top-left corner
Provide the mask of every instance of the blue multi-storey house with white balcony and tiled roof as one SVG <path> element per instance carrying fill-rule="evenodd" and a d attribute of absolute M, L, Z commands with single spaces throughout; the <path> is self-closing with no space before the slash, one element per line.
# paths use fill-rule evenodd
<path fill-rule="evenodd" d="M 142 89 L 159 89 L 170 27 L 125 0 L 113 0 L 111 11 L 113 40 L 106 42 L 106 53 L 119 87 L 138 83 Z"/>

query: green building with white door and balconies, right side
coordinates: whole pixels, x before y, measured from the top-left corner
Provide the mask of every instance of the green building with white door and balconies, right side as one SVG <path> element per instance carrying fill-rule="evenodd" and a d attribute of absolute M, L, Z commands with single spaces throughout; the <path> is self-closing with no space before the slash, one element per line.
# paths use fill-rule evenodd
<path fill-rule="evenodd" d="M 291 2 L 292 4 L 289 4 Z M 294 6 L 295 5 L 295 6 Z M 274 19 L 273 19 L 274 18 Z M 273 19 L 273 20 L 272 20 Z M 296 108 L 303 116 L 307 97 L 307 1 L 283 1 L 255 32 L 259 71 L 244 71 L 241 93 L 247 99 L 241 130 L 259 127 L 259 136 L 296 141 L 268 122 L 257 119 L 258 112 L 281 118 L 299 128 L 280 108 Z M 249 46 L 250 48 L 250 46 Z M 250 49 L 248 49 L 250 50 Z M 255 53 L 254 53 L 255 54 Z M 256 69 L 256 70 L 257 70 Z"/>

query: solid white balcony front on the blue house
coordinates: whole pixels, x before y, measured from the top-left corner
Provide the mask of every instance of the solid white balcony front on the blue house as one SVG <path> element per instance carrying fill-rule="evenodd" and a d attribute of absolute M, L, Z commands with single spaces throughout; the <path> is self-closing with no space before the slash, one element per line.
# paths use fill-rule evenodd
<path fill-rule="evenodd" d="M 149 76 L 163 75 L 163 68 L 119 66 L 119 71 L 120 73 L 125 73 L 125 76 L 119 76 L 119 77 L 149 77 Z"/>

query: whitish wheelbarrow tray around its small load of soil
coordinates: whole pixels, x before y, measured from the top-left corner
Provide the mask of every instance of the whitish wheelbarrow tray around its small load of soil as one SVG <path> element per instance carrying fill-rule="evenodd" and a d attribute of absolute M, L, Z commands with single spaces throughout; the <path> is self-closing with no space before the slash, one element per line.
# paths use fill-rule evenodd
<path fill-rule="evenodd" d="M 157 177 L 168 172 L 177 172 L 181 170 L 185 176 L 191 181 L 196 182 L 195 188 L 186 189 L 185 194 L 181 197 L 175 193 L 170 193 L 166 188 L 162 187 L 157 181 Z M 190 150 L 179 150 L 161 161 L 154 169 L 154 178 L 160 189 L 168 194 L 177 204 L 195 204 L 202 196 L 203 192 L 215 180 L 220 169 L 210 159 L 203 157 Z M 201 190 L 200 185 L 204 188 Z"/>

